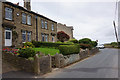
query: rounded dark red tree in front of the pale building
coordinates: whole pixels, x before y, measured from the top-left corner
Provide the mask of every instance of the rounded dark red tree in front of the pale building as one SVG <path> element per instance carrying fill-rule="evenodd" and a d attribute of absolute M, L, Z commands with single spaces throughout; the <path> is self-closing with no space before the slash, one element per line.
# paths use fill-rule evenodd
<path fill-rule="evenodd" d="M 59 32 L 57 33 L 57 38 L 58 38 L 58 40 L 61 41 L 61 42 L 68 41 L 68 40 L 70 39 L 69 35 L 66 34 L 66 33 L 63 32 L 63 31 L 59 31 Z"/>

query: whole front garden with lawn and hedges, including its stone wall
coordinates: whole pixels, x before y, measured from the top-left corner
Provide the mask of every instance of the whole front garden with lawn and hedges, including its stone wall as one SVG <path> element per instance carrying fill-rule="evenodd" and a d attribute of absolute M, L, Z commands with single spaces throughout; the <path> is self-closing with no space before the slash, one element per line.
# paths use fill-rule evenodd
<path fill-rule="evenodd" d="M 88 38 L 55 43 L 32 41 L 22 48 L 4 48 L 3 59 L 27 72 L 47 73 L 94 55 L 99 51 L 96 45 Z"/>

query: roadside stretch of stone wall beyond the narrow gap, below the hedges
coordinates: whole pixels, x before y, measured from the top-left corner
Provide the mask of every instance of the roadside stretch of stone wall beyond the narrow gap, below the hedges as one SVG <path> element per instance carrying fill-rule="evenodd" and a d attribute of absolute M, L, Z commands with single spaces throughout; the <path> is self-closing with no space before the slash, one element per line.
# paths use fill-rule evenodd
<path fill-rule="evenodd" d="M 82 59 L 85 59 L 89 56 L 95 55 L 97 52 L 99 52 L 99 49 L 94 48 L 92 50 L 85 50 L 85 51 L 81 51 L 78 54 L 72 54 L 66 56 L 63 56 L 62 54 L 56 54 L 55 56 L 52 56 L 52 67 L 62 68 L 77 61 L 80 61 Z"/>

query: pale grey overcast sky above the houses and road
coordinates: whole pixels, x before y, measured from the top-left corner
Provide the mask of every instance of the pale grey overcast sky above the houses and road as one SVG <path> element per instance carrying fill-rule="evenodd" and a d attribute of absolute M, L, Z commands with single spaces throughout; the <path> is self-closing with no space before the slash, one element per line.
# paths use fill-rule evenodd
<path fill-rule="evenodd" d="M 7 0 L 13 3 L 22 0 Z M 116 41 L 112 21 L 116 0 L 32 0 L 32 11 L 58 23 L 74 27 L 76 39 L 91 38 L 99 43 Z"/>

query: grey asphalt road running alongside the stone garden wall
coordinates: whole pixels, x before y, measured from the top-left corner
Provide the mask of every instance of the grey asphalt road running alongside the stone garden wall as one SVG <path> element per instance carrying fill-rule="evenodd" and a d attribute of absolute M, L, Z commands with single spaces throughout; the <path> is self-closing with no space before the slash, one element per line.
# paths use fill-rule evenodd
<path fill-rule="evenodd" d="M 69 67 L 53 71 L 44 78 L 118 78 L 118 49 L 103 49 Z"/>

